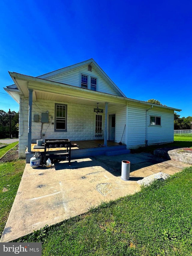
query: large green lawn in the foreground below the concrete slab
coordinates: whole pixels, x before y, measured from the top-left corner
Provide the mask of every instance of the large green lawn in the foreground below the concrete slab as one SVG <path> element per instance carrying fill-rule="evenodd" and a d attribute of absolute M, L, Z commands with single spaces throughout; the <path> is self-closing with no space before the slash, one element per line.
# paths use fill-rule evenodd
<path fill-rule="evenodd" d="M 192 167 L 17 242 L 42 255 L 192 255 Z"/>

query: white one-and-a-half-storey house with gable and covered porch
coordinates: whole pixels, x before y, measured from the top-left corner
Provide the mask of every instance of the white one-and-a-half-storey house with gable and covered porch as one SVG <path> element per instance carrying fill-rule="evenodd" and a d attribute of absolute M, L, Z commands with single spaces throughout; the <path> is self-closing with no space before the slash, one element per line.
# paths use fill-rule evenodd
<path fill-rule="evenodd" d="M 103 130 L 106 148 L 121 139 L 127 149 L 173 142 L 174 110 L 181 110 L 126 98 L 93 59 L 38 77 L 9 74 L 14 84 L 4 89 L 19 103 L 19 157 L 31 156 L 38 139 L 95 140 L 95 130 Z"/>

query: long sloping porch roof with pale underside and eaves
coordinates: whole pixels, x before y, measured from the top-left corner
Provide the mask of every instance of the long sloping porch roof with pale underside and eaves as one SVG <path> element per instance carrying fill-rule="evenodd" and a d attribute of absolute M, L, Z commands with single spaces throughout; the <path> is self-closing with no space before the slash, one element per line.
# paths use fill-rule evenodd
<path fill-rule="evenodd" d="M 100 107 L 104 107 L 105 102 L 110 105 L 119 104 L 126 105 L 127 102 L 135 102 L 139 104 L 145 104 L 147 106 L 154 106 L 158 108 L 165 108 L 174 111 L 181 111 L 181 109 L 161 106 L 152 104 L 146 101 L 139 101 L 131 98 L 124 98 L 121 96 L 111 95 L 104 92 L 95 92 L 88 89 L 71 86 L 64 83 L 58 83 L 49 81 L 39 77 L 31 77 L 23 74 L 9 72 L 13 82 L 16 84 L 16 88 L 4 88 L 7 93 L 10 94 L 19 103 L 19 94 L 29 97 L 29 90 L 33 89 L 33 100 L 37 98 L 53 101 L 67 101 L 77 104 L 93 105 L 96 102 L 100 104 Z"/>

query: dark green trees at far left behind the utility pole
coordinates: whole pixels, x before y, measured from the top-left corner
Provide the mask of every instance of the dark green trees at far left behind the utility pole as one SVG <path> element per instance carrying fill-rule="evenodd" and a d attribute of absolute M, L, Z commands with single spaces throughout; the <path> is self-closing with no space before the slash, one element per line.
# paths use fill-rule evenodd
<path fill-rule="evenodd" d="M 0 110 L 0 139 L 9 138 L 9 116 L 11 117 L 11 135 L 16 138 L 19 136 L 19 112 L 11 111 L 9 115 L 9 111 Z"/>

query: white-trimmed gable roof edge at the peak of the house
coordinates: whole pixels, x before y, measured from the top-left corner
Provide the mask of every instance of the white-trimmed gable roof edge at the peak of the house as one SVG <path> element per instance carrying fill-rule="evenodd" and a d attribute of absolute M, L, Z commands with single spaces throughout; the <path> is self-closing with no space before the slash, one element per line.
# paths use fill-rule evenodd
<path fill-rule="evenodd" d="M 78 68 L 82 68 L 82 67 L 87 66 L 87 65 L 91 65 L 92 68 L 95 69 L 95 71 L 97 71 L 98 74 L 108 84 L 110 84 L 112 86 L 112 88 L 119 94 L 119 96 L 122 96 L 122 97 L 126 98 L 125 94 L 118 88 L 118 86 L 116 86 L 115 83 L 113 83 L 113 81 L 110 79 L 110 77 L 108 77 L 108 75 L 102 70 L 102 68 L 95 62 L 94 59 L 88 59 L 88 60 L 85 60 L 83 62 L 79 62 L 77 64 L 67 66 L 65 68 L 60 68 L 58 70 L 55 70 L 55 71 L 43 74 L 41 76 L 38 76 L 37 78 L 42 78 L 42 79 L 49 80 L 49 79 L 52 79 L 54 77 L 66 74 L 66 73 L 68 73 L 70 71 L 74 71 L 74 70 L 76 70 Z"/>

